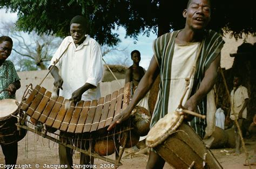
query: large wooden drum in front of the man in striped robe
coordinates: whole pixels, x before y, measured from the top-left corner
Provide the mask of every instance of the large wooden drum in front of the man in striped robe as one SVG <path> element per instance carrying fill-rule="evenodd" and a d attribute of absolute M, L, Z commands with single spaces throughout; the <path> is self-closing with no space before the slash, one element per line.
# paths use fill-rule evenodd
<path fill-rule="evenodd" d="M 222 168 L 198 134 L 182 121 L 178 112 L 166 114 L 147 134 L 146 145 L 174 168 Z"/>

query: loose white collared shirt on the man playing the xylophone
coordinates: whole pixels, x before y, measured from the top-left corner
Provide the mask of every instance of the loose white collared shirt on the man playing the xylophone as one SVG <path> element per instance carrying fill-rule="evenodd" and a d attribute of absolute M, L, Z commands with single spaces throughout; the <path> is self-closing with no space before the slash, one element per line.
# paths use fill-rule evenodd
<path fill-rule="evenodd" d="M 82 100 L 93 100 L 100 97 L 99 83 L 103 76 L 103 63 L 100 45 L 95 39 L 86 35 L 86 39 L 77 48 L 71 36 L 66 37 L 51 59 L 50 66 L 62 55 L 68 44 L 68 50 L 56 64 L 63 78 L 63 90 L 60 96 L 70 99 L 72 93 L 85 83 L 97 86 L 83 93 Z M 49 67 L 50 67 L 49 66 Z"/>

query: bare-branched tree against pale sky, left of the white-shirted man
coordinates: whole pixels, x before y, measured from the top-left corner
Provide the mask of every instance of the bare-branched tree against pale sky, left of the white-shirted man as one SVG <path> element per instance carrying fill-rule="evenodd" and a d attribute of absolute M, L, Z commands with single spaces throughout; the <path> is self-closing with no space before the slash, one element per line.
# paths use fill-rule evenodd
<path fill-rule="evenodd" d="M 1 25 L 1 33 L 9 35 L 14 40 L 11 59 L 17 65 L 18 71 L 47 69 L 53 53 L 61 42 L 60 38 L 45 33 L 38 36 L 35 31 L 27 34 L 16 30 L 12 22 Z"/>

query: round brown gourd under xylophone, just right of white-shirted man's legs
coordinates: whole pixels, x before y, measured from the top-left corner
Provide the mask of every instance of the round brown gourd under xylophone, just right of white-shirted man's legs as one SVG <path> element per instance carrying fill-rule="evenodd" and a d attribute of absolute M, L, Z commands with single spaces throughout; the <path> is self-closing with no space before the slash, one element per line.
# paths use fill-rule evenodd
<path fill-rule="evenodd" d="M 114 140 L 112 139 L 98 140 L 94 146 L 94 150 L 99 156 L 110 156 L 114 153 L 114 149 Z"/>

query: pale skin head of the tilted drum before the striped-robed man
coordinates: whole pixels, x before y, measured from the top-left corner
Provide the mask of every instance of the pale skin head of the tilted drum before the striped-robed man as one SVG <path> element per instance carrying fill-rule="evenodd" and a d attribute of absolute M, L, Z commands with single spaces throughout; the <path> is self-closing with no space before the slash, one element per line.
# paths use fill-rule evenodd
<path fill-rule="evenodd" d="M 179 126 L 180 115 L 178 112 L 168 113 L 157 121 L 147 134 L 146 145 L 155 147 L 161 144 Z M 178 126 L 177 126 L 178 124 Z"/>

